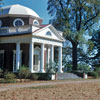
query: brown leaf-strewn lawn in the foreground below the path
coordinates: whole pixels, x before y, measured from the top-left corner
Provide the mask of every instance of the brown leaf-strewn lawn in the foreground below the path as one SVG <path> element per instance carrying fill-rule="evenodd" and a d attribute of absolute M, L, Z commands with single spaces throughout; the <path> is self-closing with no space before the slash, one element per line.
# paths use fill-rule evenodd
<path fill-rule="evenodd" d="M 12 89 L 0 92 L 0 100 L 100 100 L 100 82 Z"/>

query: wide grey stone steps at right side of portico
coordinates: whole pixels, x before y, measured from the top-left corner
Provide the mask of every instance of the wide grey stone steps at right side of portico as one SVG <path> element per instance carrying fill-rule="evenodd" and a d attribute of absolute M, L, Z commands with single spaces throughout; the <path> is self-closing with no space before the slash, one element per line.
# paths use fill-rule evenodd
<path fill-rule="evenodd" d="M 81 79 L 81 77 L 73 73 L 57 73 L 56 79 L 57 80 Z"/>

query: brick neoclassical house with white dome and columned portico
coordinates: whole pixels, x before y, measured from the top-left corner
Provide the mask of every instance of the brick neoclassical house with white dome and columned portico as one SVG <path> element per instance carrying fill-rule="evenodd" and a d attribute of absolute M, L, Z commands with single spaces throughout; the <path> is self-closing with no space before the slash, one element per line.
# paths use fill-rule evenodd
<path fill-rule="evenodd" d="M 32 73 L 44 73 L 57 53 L 61 73 L 63 42 L 62 32 L 51 24 L 43 25 L 30 8 L 16 4 L 0 9 L 0 68 L 4 71 L 16 72 L 25 65 Z M 58 52 L 54 52 L 55 47 Z"/>

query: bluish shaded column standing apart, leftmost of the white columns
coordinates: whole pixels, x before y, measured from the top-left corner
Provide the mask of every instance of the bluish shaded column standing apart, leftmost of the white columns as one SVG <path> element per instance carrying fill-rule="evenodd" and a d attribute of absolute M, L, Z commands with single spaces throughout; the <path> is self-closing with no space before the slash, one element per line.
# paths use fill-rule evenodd
<path fill-rule="evenodd" d="M 16 71 L 19 70 L 20 66 L 20 43 L 16 44 Z"/>

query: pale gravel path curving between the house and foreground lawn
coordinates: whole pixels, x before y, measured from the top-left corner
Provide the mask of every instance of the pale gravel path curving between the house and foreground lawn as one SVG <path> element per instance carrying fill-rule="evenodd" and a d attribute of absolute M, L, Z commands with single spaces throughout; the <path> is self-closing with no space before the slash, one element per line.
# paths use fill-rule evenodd
<path fill-rule="evenodd" d="M 60 81 L 44 81 L 44 82 L 31 82 L 31 83 L 19 83 L 19 84 L 0 84 L 0 92 L 16 88 L 25 88 L 25 87 L 37 87 L 45 85 L 57 85 L 57 84 L 77 84 L 77 83 L 87 83 L 87 82 L 100 82 L 100 79 L 91 79 L 91 80 L 60 80 Z"/>

